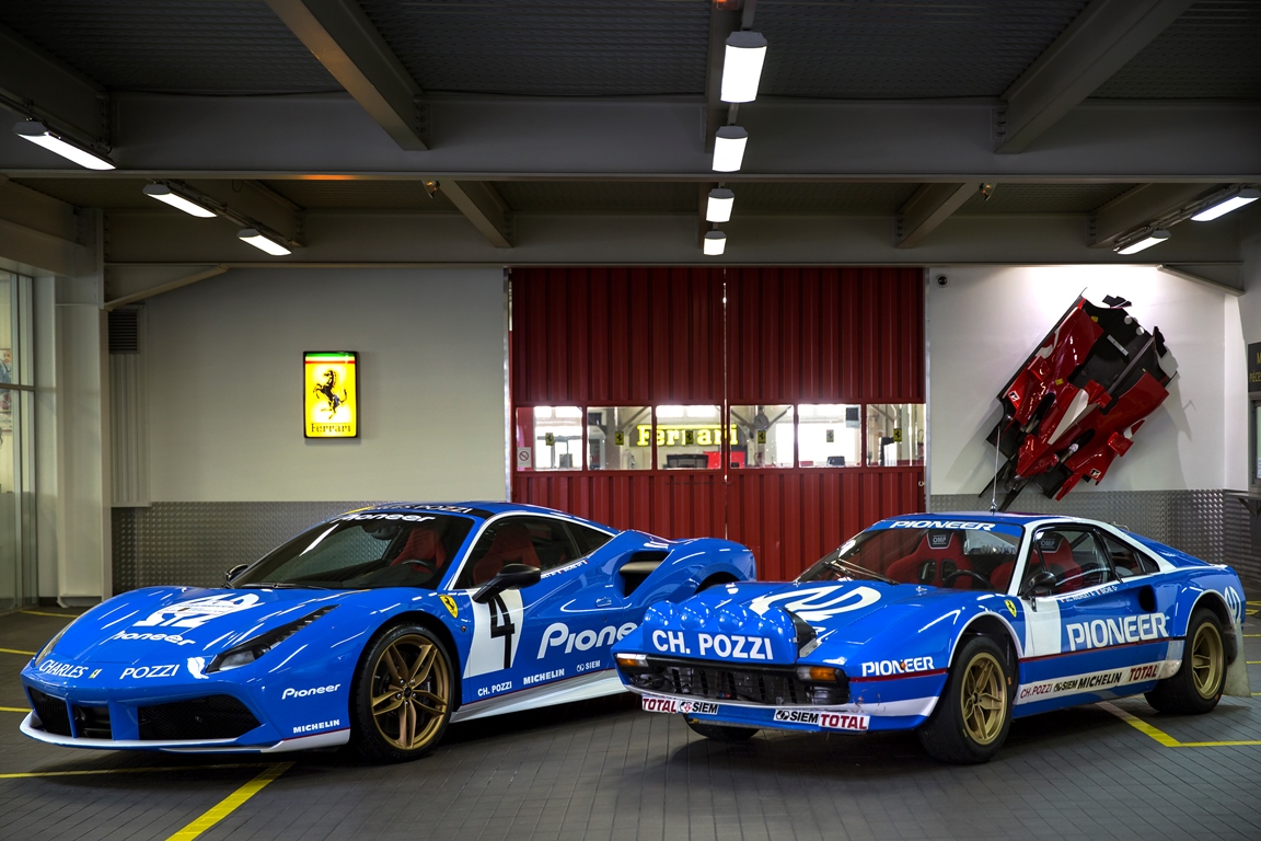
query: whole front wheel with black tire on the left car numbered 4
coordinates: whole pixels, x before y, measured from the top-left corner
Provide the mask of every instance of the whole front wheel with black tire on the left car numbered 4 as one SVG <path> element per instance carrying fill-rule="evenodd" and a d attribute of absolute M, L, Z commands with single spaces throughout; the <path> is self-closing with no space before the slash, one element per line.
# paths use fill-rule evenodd
<path fill-rule="evenodd" d="M 446 733 L 454 691 L 451 658 L 436 634 L 419 625 L 387 629 L 368 647 L 354 676 L 354 746 L 372 762 L 420 759 Z"/>

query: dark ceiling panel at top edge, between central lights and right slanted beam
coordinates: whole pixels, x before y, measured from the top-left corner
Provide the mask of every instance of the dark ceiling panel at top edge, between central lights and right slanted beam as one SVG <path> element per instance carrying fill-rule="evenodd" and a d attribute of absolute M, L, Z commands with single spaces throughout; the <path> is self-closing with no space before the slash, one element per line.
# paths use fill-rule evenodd
<path fill-rule="evenodd" d="M 760 91 L 793 97 L 1001 96 L 1086 0 L 760 0 Z M 755 107 L 755 106 L 754 106 Z"/>

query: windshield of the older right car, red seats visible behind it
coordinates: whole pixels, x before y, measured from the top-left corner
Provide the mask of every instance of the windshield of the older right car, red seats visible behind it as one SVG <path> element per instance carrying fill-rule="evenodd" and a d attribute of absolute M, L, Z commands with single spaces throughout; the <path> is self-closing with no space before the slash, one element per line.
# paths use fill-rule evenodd
<path fill-rule="evenodd" d="M 990 523 L 985 523 L 989 526 Z M 1002 531 L 999 531 L 1002 530 Z M 798 581 L 873 579 L 956 590 L 1006 590 L 1020 530 L 881 528 L 865 531 L 828 552 Z"/>

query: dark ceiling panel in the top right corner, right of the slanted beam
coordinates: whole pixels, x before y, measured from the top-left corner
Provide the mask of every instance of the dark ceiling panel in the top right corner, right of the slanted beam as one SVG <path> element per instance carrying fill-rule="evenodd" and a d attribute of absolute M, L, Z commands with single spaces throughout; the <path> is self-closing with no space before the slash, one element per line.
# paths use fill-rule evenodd
<path fill-rule="evenodd" d="M 1200 0 L 1093 96 L 1261 100 L 1258 44 L 1261 3 Z"/>

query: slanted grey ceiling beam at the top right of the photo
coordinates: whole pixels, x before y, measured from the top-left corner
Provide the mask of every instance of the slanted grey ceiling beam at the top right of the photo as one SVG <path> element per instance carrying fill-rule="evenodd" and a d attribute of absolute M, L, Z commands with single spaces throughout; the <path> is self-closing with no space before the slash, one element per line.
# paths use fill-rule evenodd
<path fill-rule="evenodd" d="M 1093 0 L 1002 95 L 997 151 L 1028 149 L 1193 1 Z"/>

